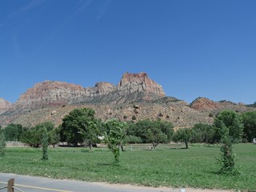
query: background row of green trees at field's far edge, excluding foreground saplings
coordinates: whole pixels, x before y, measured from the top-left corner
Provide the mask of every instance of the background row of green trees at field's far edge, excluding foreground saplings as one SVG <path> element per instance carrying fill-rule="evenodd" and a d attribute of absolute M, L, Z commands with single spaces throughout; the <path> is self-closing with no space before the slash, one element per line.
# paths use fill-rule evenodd
<path fill-rule="evenodd" d="M 42 122 L 30 128 L 12 123 L 1 131 L 6 141 L 24 142 L 39 147 L 42 145 L 43 130 L 46 128 L 50 145 L 67 142 L 70 146 L 79 146 L 86 142 L 91 149 L 96 143 L 101 142 L 100 138 L 111 129 L 108 123 L 94 118 L 94 114 L 92 109 L 75 109 L 62 119 L 60 126 L 55 128 L 52 122 Z M 252 142 L 253 138 L 256 138 L 256 111 L 240 115 L 233 110 L 225 110 L 216 115 L 213 125 L 198 123 L 192 129 L 180 128 L 176 132 L 172 123 L 160 120 L 145 119 L 136 123 L 124 122 L 124 124 L 126 143 L 150 142 L 152 150 L 159 143 L 170 141 L 185 142 L 186 147 L 188 142 L 221 142 L 222 126 L 229 129 L 232 142 Z"/>

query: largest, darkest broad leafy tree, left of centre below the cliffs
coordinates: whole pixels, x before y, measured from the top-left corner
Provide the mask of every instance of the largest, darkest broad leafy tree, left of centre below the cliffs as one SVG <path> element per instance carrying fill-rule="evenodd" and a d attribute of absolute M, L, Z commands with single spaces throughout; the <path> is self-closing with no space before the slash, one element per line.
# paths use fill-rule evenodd
<path fill-rule="evenodd" d="M 62 142 L 68 142 L 74 146 L 85 141 L 86 130 L 94 122 L 94 110 L 89 108 L 74 109 L 62 120 L 60 136 Z"/>

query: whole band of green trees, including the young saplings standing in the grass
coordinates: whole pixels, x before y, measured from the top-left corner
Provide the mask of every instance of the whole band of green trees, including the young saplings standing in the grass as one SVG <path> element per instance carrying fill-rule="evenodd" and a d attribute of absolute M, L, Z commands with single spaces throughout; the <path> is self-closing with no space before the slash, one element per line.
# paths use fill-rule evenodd
<path fill-rule="evenodd" d="M 171 141 L 184 142 L 186 148 L 189 142 L 222 143 L 219 162 L 223 167 L 232 168 L 232 143 L 251 142 L 256 137 L 255 111 L 238 114 L 233 110 L 224 110 L 216 115 L 212 125 L 198 123 L 192 129 L 180 128 L 176 131 L 172 123 L 161 120 L 122 122 L 110 119 L 102 122 L 95 118 L 94 114 L 94 110 L 89 108 L 72 110 L 58 127 L 54 127 L 52 122 L 42 122 L 30 128 L 10 124 L 1 129 L 0 138 L 24 142 L 32 147 L 42 146 L 45 150 L 43 154 L 47 154 L 48 145 L 55 146 L 58 142 L 66 142 L 69 146 L 81 146 L 86 143 L 90 151 L 97 143 L 105 142 L 113 152 L 115 162 L 118 162 L 120 150 L 123 150 L 126 143 L 151 143 L 150 150 L 154 150 L 160 143 Z M 47 155 L 45 158 L 48 158 Z"/>

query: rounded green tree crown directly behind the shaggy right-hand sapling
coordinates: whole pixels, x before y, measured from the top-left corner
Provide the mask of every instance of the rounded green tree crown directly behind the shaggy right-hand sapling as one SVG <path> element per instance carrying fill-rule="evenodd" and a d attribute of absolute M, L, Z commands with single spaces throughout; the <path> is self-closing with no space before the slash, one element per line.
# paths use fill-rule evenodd
<path fill-rule="evenodd" d="M 231 142 L 241 142 L 243 123 L 242 118 L 236 112 L 233 110 L 223 110 L 216 119 L 221 120 L 229 130 Z"/>

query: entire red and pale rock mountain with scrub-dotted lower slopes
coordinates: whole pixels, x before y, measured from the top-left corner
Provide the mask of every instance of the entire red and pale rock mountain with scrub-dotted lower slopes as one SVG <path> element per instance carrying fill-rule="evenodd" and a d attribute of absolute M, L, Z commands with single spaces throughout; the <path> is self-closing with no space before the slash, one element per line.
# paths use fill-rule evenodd
<path fill-rule="evenodd" d="M 51 121 L 58 126 L 62 118 L 79 107 L 90 107 L 96 117 L 106 120 L 119 118 L 123 121 L 162 119 L 176 127 L 190 127 L 195 123 L 212 123 L 221 110 L 244 112 L 254 110 L 233 102 L 214 102 L 197 98 L 191 104 L 178 98 L 166 97 L 162 86 L 146 73 L 123 74 L 115 86 L 97 82 L 94 87 L 83 88 L 66 82 L 39 82 L 11 104 L 0 99 L 0 125 L 20 123 L 34 126 L 38 122 Z"/>

